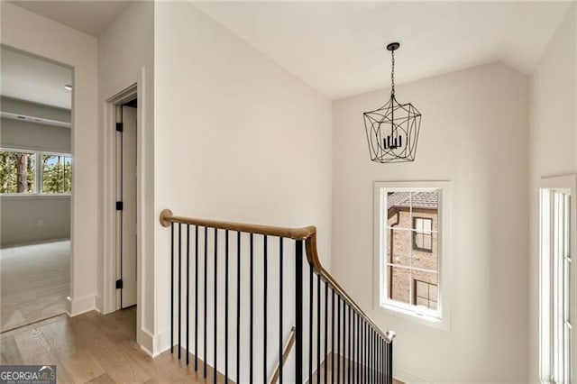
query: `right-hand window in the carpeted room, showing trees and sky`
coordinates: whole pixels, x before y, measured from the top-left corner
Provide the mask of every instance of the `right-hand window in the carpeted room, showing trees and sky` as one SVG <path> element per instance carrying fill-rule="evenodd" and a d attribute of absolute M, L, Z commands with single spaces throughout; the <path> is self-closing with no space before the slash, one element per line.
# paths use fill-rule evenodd
<path fill-rule="evenodd" d="M 61 154 L 42 154 L 42 193 L 70 193 L 72 158 Z"/>

